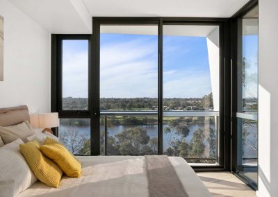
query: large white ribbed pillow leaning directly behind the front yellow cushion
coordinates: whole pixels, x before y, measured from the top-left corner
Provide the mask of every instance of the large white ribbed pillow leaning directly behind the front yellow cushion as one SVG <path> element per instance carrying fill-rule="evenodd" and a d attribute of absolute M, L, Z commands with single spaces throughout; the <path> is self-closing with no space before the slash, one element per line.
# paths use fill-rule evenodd
<path fill-rule="evenodd" d="M 0 148 L 0 182 L 13 181 L 15 195 L 28 189 L 38 180 L 20 153 L 19 144 L 24 144 L 22 139 Z"/>

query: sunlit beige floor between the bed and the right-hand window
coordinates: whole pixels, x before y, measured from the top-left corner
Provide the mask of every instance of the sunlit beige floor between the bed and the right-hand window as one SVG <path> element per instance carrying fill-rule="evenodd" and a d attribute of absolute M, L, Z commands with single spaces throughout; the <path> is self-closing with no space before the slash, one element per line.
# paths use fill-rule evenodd
<path fill-rule="evenodd" d="M 256 196 L 241 180 L 229 172 L 197 173 L 213 196 Z"/>

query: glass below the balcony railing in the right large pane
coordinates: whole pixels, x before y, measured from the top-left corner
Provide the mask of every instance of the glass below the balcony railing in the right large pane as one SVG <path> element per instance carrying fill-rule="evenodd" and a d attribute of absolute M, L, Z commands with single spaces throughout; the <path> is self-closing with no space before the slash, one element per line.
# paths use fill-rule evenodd
<path fill-rule="evenodd" d="M 163 117 L 163 154 L 218 163 L 218 117 Z"/>

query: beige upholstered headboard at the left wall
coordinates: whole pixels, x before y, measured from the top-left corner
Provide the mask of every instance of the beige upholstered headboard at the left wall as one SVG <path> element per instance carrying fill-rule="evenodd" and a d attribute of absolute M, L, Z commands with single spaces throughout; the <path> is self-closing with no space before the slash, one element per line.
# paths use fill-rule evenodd
<path fill-rule="evenodd" d="M 15 108 L 0 108 L 0 126 L 13 126 L 23 121 L 30 122 L 26 105 Z"/>

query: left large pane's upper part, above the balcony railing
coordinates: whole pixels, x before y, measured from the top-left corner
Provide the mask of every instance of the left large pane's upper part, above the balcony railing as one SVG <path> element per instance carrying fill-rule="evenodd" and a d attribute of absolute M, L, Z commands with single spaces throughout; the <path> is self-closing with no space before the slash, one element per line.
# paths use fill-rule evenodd
<path fill-rule="evenodd" d="M 158 27 L 101 25 L 100 110 L 157 110 Z"/>

